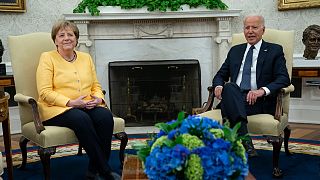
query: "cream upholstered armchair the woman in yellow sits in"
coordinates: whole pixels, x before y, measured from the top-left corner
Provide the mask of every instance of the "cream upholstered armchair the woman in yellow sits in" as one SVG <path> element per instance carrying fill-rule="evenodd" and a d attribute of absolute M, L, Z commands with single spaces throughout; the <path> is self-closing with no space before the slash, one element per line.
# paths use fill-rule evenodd
<path fill-rule="evenodd" d="M 30 33 L 8 38 L 15 88 L 17 94 L 14 100 L 18 102 L 21 133 L 20 148 L 24 168 L 27 161 L 27 143 L 29 141 L 39 146 L 45 179 L 50 179 L 50 156 L 56 152 L 56 147 L 65 144 L 78 143 L 74 132 L 65 127 L 43 126 L 37 107 L 36 69 L 40 54 L 56 49 L 50 33 Z M 128 142 L 125 133 L 125 122 L 114 117 L 114 137 L 121 141 L 120 162 L 124 160 L 124 150 Z M 81 149 L 80 149 L 81 150 Z M 79 151 L 82 152 L 82 151 Z"/>

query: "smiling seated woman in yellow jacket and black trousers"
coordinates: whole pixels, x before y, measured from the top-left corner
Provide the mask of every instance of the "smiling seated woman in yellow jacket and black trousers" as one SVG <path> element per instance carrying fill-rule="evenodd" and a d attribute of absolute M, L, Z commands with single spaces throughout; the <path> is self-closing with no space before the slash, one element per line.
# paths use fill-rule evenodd
<path fill-rule="evenodd" d="M 39 110 L 43 124 L 72 129 L 89 156 L 87 179 L 115 179 L 107 161 L 113 133 L 112 113 L 91 56 L 76 51 L 79 29 L 69 21 L 52 27 L 57 50 L 44 52 L 37 69 Z M 96 177 L 97 176 L 97 177 Z"/>

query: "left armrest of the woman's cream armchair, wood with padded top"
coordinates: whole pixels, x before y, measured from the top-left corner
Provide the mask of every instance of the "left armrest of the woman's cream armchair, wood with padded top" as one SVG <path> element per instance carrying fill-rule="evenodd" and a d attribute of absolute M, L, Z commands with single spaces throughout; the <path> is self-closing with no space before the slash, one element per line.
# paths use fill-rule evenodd
<path fill-rule="evenodd" d="M 45 128 L 40 120 L 37 101 L 33 97 L 18 93 L 14 96 L 14 100 L 18 103 L 30 104 L 31 108 L 32 108 L 33 122 L 36 127 L 37 133 L 40 134 L 41 131 L 45 130 Z"/>

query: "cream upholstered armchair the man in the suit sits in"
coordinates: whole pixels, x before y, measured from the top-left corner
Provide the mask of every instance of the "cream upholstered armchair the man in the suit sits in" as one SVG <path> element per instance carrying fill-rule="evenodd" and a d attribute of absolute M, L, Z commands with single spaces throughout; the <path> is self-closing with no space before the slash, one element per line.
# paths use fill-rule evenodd
<path fill-rule="evenodd" d="M 268 42 L 273 42 L 282 45 L 286 58 L 286 66 L 291 77 L 292 60 L 293 60 L 293 31 L 280 31 L 275 29 L 266 29 L 263 39 Z M 234 34 L 232 36 L 232 45 L 245 43 L 243 33 Z M 208 87 L 209 97 L 202 108 L 195 108 L 194 113 L 200 116 L 209 117 L 222 122 L 220 109 L 215 109 L 214 90 L 213 87 Z M 294 86 L 290 85 L 281 89 L 277 97 L 277 107 L 275 116 L 270 114 L 257 114 L 248 116 L 248 131 L 249 134 L 263 135 L 268 143 L 273 146 L 273 176 L 279 177 L 282 172 L 279 168 L 279 154 L 284 141 L 284 149 L 287 155 L 290 154 L 288 149 L 288 140 L 291 130 L 288 124 L 289 115 L 289 100 L 290 92 L 294 91 Z"/>

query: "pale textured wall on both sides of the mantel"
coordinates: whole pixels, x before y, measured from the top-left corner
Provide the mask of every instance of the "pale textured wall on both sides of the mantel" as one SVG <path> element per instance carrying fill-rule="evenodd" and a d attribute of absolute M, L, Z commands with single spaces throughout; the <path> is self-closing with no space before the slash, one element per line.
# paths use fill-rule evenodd
<path fill-rule="evenodd" d="M 63 18 L 64 13 L 71 13 L 81 0 L 27 0 L 26 13 L 0 13 L 0 38 L 7 47 L 8 35 L 19 35 L 35 31 L 49 32 L 52 24 Z M 311 25 L 320 25 L 319 8 L 278 11 L 278 0 L 224 0 L 230 9 L 241 9 L 241 16 L 233 27 L 234 32 L 242 31 L 242 19 L 248 14 L 261 14 L 265 17 L 268 28 L 296 31 L 295 54 L 302 54 L 301 42 L 303 30 Z M 10 61 L 8 51 L 4 52 L 3 61 Z"/>

